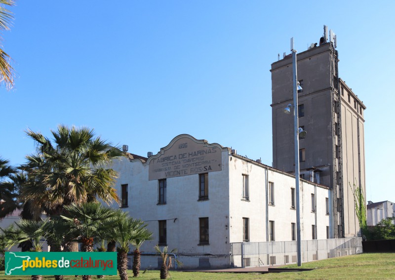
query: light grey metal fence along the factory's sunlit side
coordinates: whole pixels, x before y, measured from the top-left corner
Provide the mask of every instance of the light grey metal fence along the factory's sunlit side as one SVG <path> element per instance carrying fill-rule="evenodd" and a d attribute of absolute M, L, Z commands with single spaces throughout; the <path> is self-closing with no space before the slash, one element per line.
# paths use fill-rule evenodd
<path fill-rule="evenodd" d="M 362 253 L 362 238 L 304 240 L 302 262 Z M 231 244 L 232 267 L 296 263 L 296 241 L 239 242 Z"/>

